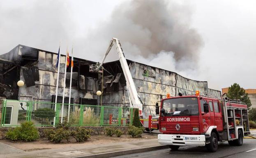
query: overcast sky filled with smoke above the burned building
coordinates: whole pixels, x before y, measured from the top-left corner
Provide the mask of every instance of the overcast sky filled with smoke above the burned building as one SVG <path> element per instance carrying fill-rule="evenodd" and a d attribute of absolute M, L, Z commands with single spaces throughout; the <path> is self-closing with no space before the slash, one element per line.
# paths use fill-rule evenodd
<path fill-rule="evenodd" d="M 112 37 L 129 60 L 221 90 L 256 89 L 254 0 L 0 0 L 0 54 L 18 44 L 101 61 Z M 111 50 L 106 61 L 118 60 Z"/>

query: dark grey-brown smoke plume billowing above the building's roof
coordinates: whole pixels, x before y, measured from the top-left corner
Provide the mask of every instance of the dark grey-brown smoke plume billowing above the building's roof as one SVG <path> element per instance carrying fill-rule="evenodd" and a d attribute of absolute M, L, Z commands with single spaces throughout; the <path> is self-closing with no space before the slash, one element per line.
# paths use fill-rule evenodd
<path fill-rule="evenodd" d="M 190 17 L 189 6 L 172 0 L 132 0 L 116 7 L 110 20 L 93 30 L 90 38 L 119 38 L 131 60 L 138 60 L 139 55 L 144 58 L 141 61 L 152 61 L 160 58 L 160 52 L 169 52 L 176 62 L 172 69 L 184 70 L 198 62 L 203 45 L 201 36 L 190 26 Z"/>

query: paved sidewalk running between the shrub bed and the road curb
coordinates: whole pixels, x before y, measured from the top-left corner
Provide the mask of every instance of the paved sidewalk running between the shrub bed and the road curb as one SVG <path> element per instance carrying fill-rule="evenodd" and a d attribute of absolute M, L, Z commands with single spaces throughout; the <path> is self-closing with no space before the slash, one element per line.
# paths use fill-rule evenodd
<path fill-rule="evenodd" d="M 2 143 L 3 144 L 3 143 Z M 1 150 L 8 151 L 12 148 L 6 145 Z M 164 149 L 166 146 L 162 146 L 158 143 L 157 139 L 151 140 L 136 140 L 129 142 L 111 143 L 111 144 L 97 144 L 86 145 L 74 148 L 60 148 L 60 149 L 46 149 L 37 151 L 22 151 L 22 150 L 10 150 L 10 152 L 0 153 L 0 158 L 70 158 L 70 157 L 90 157 L 101 158 L 118 156 L 129 153 L 138 153 L 145 151 L 152 151 L 156 149 Z"/>

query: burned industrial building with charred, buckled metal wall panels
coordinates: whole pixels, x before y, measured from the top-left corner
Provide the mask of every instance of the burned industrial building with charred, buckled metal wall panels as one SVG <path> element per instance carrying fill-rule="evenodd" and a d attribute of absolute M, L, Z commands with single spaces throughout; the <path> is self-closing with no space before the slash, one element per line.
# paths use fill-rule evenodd
<path fill-rule="evenodd" d="M 57 83 L 57 53 L 18 45 L 10 52 L 0 55 L 0 96 L 21 101 L 54 102 Z M 97 104 L 98 90 L 103 92 L 102 105 L 129 107 L 126 81 L 119 61 L 104 63 L 103 73 L 90 72 L 96 62 L 74 57 L 71 103 Z M 178 73 L 127 60 L 138 95 L 144 105 L 146 116 L 155 116 L 155 103 L 166 97 L 202 94 L 220 97 L 221 92 L 209 89 L 208 83 L 180 76 Z M 65 55 L 60 57 L 58 102 L 62 102 L 64 87 Z M 67 69 L 66 85 L 70 82 L 70 67 Z M 103 80 L 102 80 L 103 78 Z M 23 80 L 23 87 L 17 81 Z M 102 83 L 103 81 L 103 83 Z M 69 86 L 65 88 L 65 103 L 68 103 Z"/>

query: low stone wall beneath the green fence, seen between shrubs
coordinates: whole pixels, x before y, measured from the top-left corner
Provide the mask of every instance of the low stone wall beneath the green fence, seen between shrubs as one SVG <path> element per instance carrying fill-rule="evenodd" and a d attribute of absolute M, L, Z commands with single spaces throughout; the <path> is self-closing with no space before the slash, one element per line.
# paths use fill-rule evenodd
<path fill-rule="evenodd" d="M 9 129 L 12 127 L 5 127 L 5 128 L 0 128 L 0 140 L 6 139 L 6 133 Z M 54 127 L 38 127 L 38 132 L 40 137 L 45 137 L 44 135 L 44 129 L 46 128 L 54 128 Z M 77 127 L 71 127 L 71 130 L 77 128 Z M 82 127 L 85 129 L 91 129 L 93 132 L 91 133 L 92 135 L 104 135 L 105 128 L 107 127 Z M 117 127 L 108 127 L 108 128 L 115 128 L 115 129 L 120 129 L 122 130 L 125 134 L 127 134 L 128 127 L 127 126 L 117 126 Z"/>

